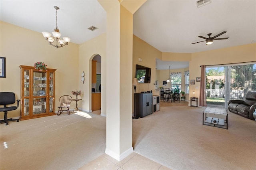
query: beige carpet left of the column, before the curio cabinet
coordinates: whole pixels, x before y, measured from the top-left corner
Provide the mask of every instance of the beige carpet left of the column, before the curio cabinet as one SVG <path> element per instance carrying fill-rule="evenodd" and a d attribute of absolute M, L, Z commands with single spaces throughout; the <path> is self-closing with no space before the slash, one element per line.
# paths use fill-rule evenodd
<path fill-rule="evenodd" d="M 104 154 L 106 118 L 80 113 L 0 124 L 0 169 L 76 170 Z"/>

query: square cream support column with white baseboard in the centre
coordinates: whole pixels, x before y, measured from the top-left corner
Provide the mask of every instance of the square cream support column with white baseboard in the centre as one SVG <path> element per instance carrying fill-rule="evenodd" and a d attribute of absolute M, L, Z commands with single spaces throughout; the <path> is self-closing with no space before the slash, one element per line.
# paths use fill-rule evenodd
<path fill-rule="evenodd" d="M 130 10 L 124 8 L 124 6 L 122 6 L 118 0 L 99 0 L 98 2 L 100 2 L 107 12 L 106 154 L 120 161 L 133 152 L 133 14 L 130 12 Z M 144 2 L 145 1 L 143 1 L 143 3 Z M 127 4 L 129 8 L 131 8 L 131 3 L 128 2 Z M 140 3 L 140 6 L 142 4 Z M 136 9 L 138 9 L 138 7 Z"/>

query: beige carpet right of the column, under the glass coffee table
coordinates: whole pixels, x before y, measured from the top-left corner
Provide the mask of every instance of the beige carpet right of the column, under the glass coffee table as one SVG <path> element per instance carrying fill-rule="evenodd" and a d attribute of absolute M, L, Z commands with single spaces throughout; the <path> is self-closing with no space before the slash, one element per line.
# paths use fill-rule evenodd
<path fill-rule="evenodd" d="M 161 107 L 133 119 L 134 151 L 174 170 L 255 170 L 256 122 L 228 112 L 228 130 L 202 125 L 202 107 Z"/>

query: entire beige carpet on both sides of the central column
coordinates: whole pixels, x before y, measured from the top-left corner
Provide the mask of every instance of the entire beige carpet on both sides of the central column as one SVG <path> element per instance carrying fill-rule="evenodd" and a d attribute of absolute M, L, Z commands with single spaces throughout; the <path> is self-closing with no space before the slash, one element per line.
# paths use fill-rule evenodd
<path fill-rule="evenodd" d="M 203 109 L 161 107 L 133 119 L 134 152 L 174 170 L 256 169 L 255 121 L 229 112 L 228 130 L 210 127 Z M 0 124 L 0 169 L 75 170 L 104 154 L 106 118 L 81 114 Z"/>

